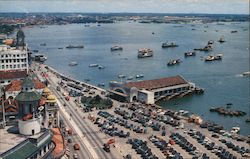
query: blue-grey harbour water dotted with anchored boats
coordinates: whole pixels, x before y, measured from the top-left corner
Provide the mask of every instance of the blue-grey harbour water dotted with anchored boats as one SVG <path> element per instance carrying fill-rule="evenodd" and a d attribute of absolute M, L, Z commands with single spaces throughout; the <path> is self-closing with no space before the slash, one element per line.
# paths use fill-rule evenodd
<path fill-rule="evenodd" d="M 222 22 L 207 24 L 142 24 L 118 22 L 33 26 L 23 29 L 31 50 L 39 50 L 48 59 L 45 64 L 70 77 L 98 85 L 109 81 L 122 81 L 117 76 L 143 74 L 141 80 L 181 75 L 187 81 L 205 89 L 203 95 L 186 96 L 157 104 L 164 108 L 188 110 L 204 120 L 221 124 L 227 130 L 241 128 L 243 135 L 250 134 L 250 78 L 242 76 L 249 71 L 249 22 Z M 236 33 L 231 31 L 237 30 Z M 226 42 L 217 42 L 220 37 Z M 199 52 L 194 57 L 184 57 L 184 52 L 202 48 L 213 40 L 213 51 Z M 163 42 L 175 42 L 179 47 L 161 47 Z M 40 44 L 46 43 L 46 46 Z M 84 45 L 84 48 L 66 49 L 68 45 Z M 114 45 L 122 51 L 111 52 Z M 58 49 L 63 48 L 63 49 Z M 151 48 L 153 57 L 138 59 L 140 48 Z M 221 61 L 205 62 L 208 55 L 223 54 Z M 181 59 L 177 66 L 168 67 L 171 59 Z M 77 66 L 69 66 L 75 61 Z M 105 69 L 89 67 L 90 64 Z M 135 81 L 136 79 L 134 79 Z M 247 113 L 242 117 L 226 117 L 210 112 L 211 107 L 232 103 L 230 109 Z"/>

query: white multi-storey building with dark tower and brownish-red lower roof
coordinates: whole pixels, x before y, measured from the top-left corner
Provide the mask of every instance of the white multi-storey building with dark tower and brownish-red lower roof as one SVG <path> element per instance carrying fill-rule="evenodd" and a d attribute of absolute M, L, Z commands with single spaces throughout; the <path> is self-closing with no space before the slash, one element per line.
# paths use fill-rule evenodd
<path fill-rule="evenodd" d="M 15 46 L 0 45 L 0 85 L 24 79 L 28 73 L 28 49 L 22 30 L 17 32 Z"/>

